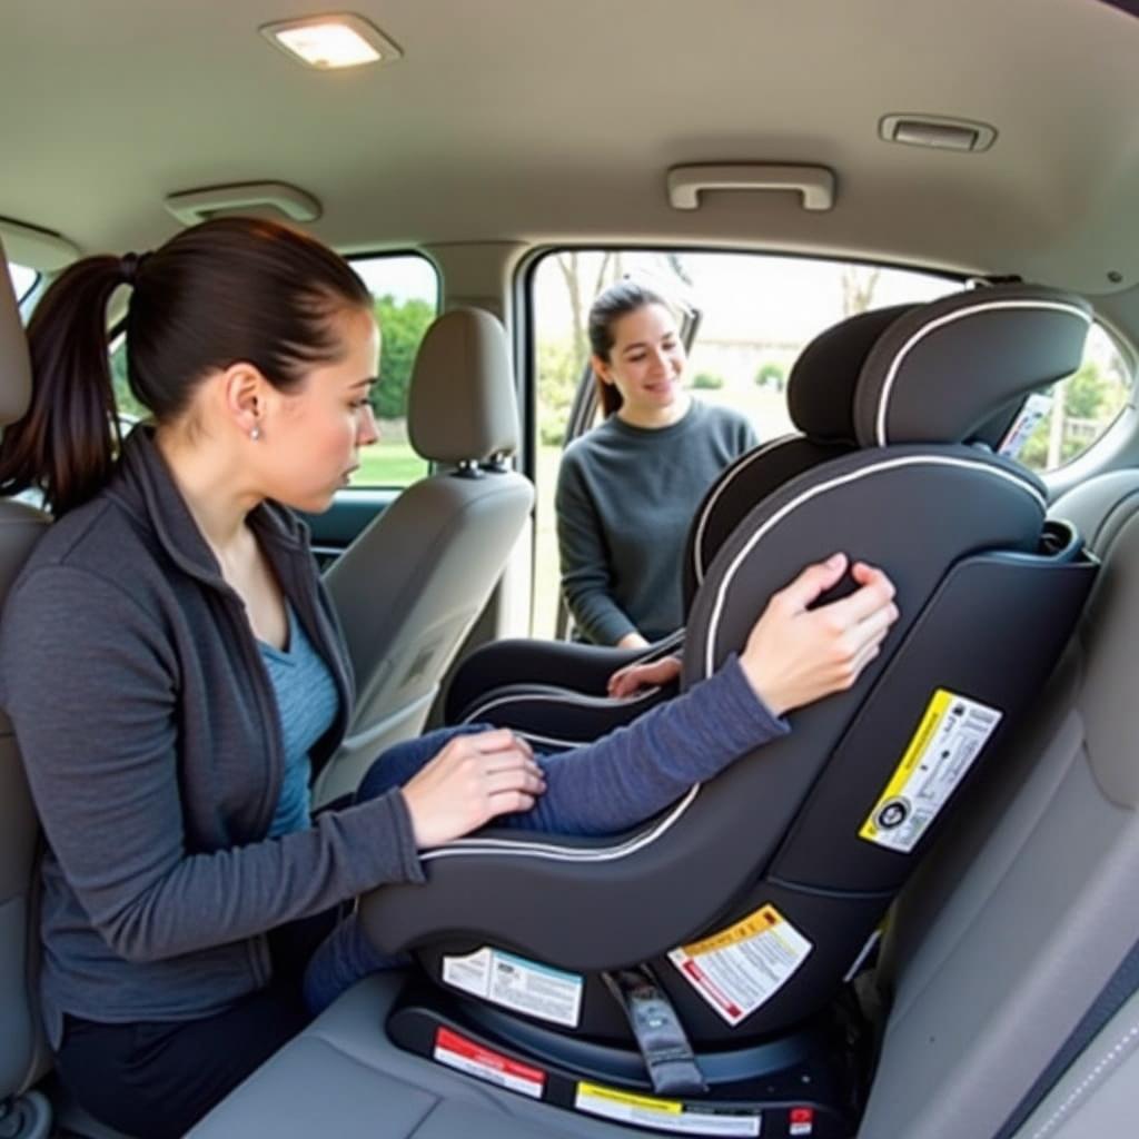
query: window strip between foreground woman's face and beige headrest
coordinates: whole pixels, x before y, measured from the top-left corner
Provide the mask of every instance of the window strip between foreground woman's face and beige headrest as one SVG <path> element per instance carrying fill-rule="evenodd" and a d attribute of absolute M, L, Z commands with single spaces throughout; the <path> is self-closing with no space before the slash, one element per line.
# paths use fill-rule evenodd
<path fill-rule="evenodd" d="M 439 312 L 439 273 L 419 254 L 352 260 L 376 298 L 379 382 L 371 390 L 379 440 L 360 452 L 353 486 L 401 487 L 427 473 L 408 441 L 408 388 L 419 343 Z"/>

